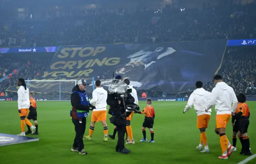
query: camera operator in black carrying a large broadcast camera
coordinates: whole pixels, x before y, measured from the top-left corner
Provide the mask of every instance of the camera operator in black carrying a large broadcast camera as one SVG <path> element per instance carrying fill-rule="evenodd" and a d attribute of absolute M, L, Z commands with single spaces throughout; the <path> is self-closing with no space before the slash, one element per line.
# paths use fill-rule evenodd
<path fill-rule="evenodd" d="M 134 104 L 134 98 L 127 91 L 127 85 L 121 80 L 115 79 L 111 82 L 108 88 L 107 104 L 110 105 L 109 112 L 113 117 L 110 122 L 116 125 L 118 141 L 116 145 L 116 152 L 128 154 L 128 150 L 124 146 L 124 134 L 126 132 L 126 117 L 130 113 L 126 112 L 127 105 Z"/>

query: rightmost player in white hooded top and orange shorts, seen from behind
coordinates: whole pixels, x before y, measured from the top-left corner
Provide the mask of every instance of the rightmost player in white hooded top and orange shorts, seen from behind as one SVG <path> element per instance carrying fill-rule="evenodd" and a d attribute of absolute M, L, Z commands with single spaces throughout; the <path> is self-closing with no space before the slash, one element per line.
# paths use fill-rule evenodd
<path fill-rule="evenodd" d="M 206 111 L 208 112 L 208 110 L 216 104 L 215 131 L 220 135 L 220 146 L 222 148 L 222 155 L 218 158 L 228 159 L 228 156 L 232 154 L 234 147 L 229 143 L 228 137 L 226 136 L 226 125 L 231 118 L 232 111 L 236 110 L 237 98 L 233 88 L 223 82 L 220 75 L 214 76 L 214 84 L 216 84 L 216 86 L 212 89 L 212 95 L 210 97 L 210 102 L 206 107 Z"/>

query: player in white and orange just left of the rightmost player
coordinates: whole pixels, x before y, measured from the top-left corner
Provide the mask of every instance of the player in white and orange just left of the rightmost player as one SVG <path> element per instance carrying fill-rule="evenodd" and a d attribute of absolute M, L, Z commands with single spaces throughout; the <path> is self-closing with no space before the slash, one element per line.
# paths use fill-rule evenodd
<path fill-rule="evenodd" d="M 197 128 L 200 130 L 200 143 L 196 148 L 201 151 L 204 144 L 204 150 L 202 150 L 201 152 L 209 153 L 210 150 L 208 148 L 205 130 L 206 128 L 208 128 L 212 109 L 209 109 L 208 112 L 206 112 L 205 108 L 210 101 L 211 93 L 204 90 L 204 88 L 202 87 L 203 82 L 197 81 L 196 90 L 194 90 L 194 92 L 188 98 L 188 103 L 183 113 L 188 111 L 192 107 L 192 105 L 194 105 L 194 109 L 197 113 Z"/>

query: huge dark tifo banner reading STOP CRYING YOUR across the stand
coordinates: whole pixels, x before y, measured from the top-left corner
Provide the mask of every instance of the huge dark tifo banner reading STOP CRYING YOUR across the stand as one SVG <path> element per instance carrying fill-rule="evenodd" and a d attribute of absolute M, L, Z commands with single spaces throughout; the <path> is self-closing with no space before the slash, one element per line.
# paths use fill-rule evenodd
<path fill-rule="evenodd" d="M 196 80 L 209 82 L 213 78 L 226 42 L 61 46 L 38 80 L 85 78 L 91 83 L 94 77 L 108 86 L 114 72 L 114 75 L 129 78 L 138 90 L 175 94 L 194 89 Z M 58 83 L 56 90 L 59 90 Z"/>

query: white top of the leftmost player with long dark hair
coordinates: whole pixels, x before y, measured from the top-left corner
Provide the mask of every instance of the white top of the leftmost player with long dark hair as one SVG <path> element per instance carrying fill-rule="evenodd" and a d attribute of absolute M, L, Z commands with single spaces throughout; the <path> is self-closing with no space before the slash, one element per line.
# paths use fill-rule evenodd
<path fill-rule="evenodd" d="M 20 86 L 18 89 L 18 109 L 29 109 L 29 91 L 25 90 L 24 86 Z"/>

